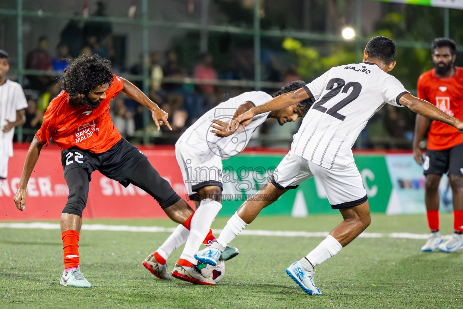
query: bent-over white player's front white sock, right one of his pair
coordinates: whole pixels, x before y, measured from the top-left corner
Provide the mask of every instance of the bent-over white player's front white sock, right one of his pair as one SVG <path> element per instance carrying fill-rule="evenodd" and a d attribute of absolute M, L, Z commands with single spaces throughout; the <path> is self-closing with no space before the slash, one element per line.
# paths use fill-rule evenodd
<path fill-rule="evenodd" d="M 188 259 L 187 257 L 189 257 L 188 260 L 195 263 L 194 252 L 199 250 L 220 208 L 222 208 L 222 204 L 210 198 L 200 202 L 200 206 L 191 217 L 190 234 L 182 252 L 182 259 Z"/>

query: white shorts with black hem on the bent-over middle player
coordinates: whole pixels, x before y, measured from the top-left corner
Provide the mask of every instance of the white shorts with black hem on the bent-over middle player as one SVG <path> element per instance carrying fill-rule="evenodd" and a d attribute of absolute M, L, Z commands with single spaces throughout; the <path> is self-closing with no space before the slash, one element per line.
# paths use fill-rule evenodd
<path fill-rule="evenodd" d="M 180 166 L 190 200 L 199 197 L 198 189 L 204 186 L 223 188 L 222 158 L 211 151 L 209 147 L 205 146 L 204 148 L 192 146 L 185 142 L 175 144 L 175 158 L 177 158 Z"/>

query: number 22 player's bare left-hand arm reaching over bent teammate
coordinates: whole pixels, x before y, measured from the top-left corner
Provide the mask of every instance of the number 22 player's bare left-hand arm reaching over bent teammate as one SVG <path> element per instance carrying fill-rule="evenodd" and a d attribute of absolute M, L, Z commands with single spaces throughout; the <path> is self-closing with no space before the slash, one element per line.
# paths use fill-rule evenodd
<path fill-rule="evenodd" d="M 307 94 L 307 91 L 304 88 L 299 88 L 297 90 L 279 95 L 265 104 L 251 108 L 246 113 L 230 121 L 230 124 L 227 127 L 227 132 L 232 131 L 232 130 L 237 130 L 237 129 L 238 129 L 238 132 L 240 132 L 241 130 L 243 130 L 244 126 L 246 126 L 244 125 L 244 122 L 251 120 L 252 117 L 258 114 L 263 114 L 263 113 L 275 111 L 277 109 L 281 109 L 281 108 L 294 105 L 296 103 L 299 103 L 300 101 L 308 99 L 308 97 L 309 95 Z M 242 126 L 238 128 L 239 124 L 241 124 Z"/>

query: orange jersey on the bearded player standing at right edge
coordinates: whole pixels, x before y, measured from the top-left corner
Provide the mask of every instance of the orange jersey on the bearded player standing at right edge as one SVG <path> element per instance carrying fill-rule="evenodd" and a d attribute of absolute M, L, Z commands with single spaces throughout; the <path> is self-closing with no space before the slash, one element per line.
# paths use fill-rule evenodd
<path fill-rule="evenodd" d="M 456 74 L 438 78 L 434 69 L 418 78 L 418 97 L 426 100 L 459 120 L 463 120 L 463 68 L 455 67 Z M 463 143 L 463 134 L 453 126 L 432 121 L 428 133 L 428 149 L 445 150 Z"/>

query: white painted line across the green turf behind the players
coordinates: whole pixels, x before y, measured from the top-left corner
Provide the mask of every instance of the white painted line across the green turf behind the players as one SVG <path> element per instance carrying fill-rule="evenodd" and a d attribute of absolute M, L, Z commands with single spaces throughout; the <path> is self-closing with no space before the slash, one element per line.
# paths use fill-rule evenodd
<path fill-rule="evenodd" d="M 18 228 L 18 229 L 44 229 L 59 230 L 59 223 L 31 222 L 31 223 L 0 223 L 0 228 Z M 82 224 L 82 230 L 85 231 L 112 231 L 112 232 L 148 232 L 148 233 L 172 233 L 175 227 L 133 227 L 128 225 L 105 225 L 105 224 Z M 214 234 L 219 234 L 222 230 L 213 229 Z M 245 229 L 240 235 L 254 236 L 280 236 L 280 237 L 326 237 L 328 232 L 303 232 L 303 231 L 267 231 Z M 363 232 L 358 237 L 361 238 L 401 238 L 426 240 L 429 234 L 413 233 L 368 233 Z M 443 239 L 450 239 L 450 235 L 442 236 Z"/>

